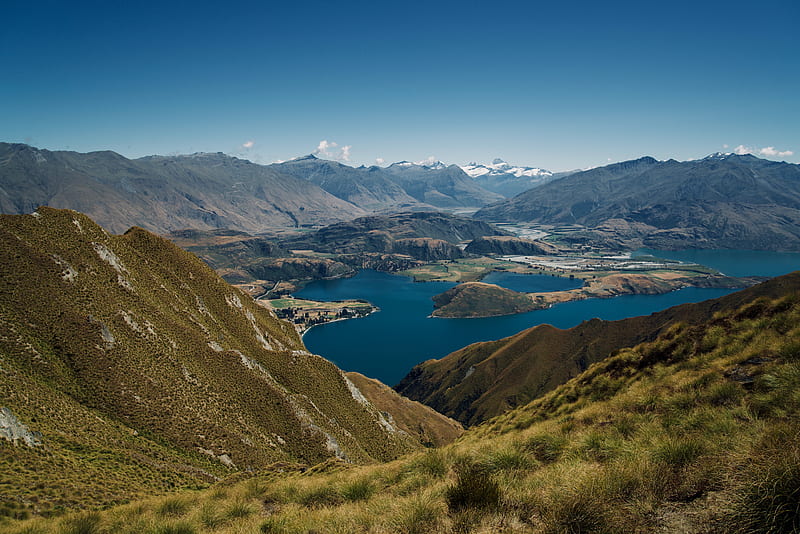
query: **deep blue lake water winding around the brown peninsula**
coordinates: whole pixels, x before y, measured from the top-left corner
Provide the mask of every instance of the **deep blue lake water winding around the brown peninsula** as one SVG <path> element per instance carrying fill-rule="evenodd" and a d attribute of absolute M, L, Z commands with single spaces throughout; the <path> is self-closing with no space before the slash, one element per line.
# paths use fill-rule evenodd
<path fill-rule="evenodd" d="M 800 253 L 639 252 L 697 262 L 732 276 L 777 276 L 800 269 Z M 484 280 L 494 280 L 493 283 L 511 289 L 516 289 L 512 287 L 514 284 L 524 283 L 525 288 L 518 290 L 525 291 L 555 291 L 580 284 L 575 280 L 542 275 L 529 275 L 524 280 L 518 279 L 524 275 L 512 273 L 491 276 L 493 278 Z M 566 285 L 558 287 L 559 284 Z M 306 333 L 304 341 L 310 351 L 332 360 L 342 369 L 358 371 L 392 385 L 424 360 L 441 358 L 470 343 L 510 336 L 538 324 L 549 323 L 559 328 L 570 328 L 592 317 L 616 320 L 648 315 L 670 306 L 700 302 L 731 292 L 727 289 L 686 288 L 664 295 L 625 295 L 567 302 L 546 310 L 502 317 L 431 318 L 431 297 L 453 285 L 446 282 L 415 283 L 411 278 L 370 270 L 361 271 L 352 278 L 313 282 L 298 292 L 297 296 L 315 300 L 362 298 L 378 306 L 381 311 L 362 319 L 316 326 Z"/>

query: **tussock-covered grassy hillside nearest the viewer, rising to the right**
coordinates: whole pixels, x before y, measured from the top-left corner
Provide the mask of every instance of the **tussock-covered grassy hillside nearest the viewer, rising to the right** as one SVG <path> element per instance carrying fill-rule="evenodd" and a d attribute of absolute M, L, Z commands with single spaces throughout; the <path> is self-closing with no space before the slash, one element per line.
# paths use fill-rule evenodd
<path fill-rule="evenodd" d="M 456 443 L 12 532 L 797 532 L 800 294 L 624 349 Z"/>

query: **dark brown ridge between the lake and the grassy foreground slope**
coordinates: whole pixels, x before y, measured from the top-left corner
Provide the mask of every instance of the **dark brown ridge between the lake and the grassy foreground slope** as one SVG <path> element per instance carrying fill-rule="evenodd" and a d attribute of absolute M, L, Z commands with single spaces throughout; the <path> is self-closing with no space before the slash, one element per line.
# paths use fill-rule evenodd
<path fill-rule="evenodd" d="M 793 273 L 725 297 L 675 306 L 646 317 L 592 319 L 569 330 L 539 325 L 423 362 L 395 389 L 465 425 L 475 425 L 527 404 L 616 350 L 654 339 L 670 325 L 697 324 L 718 311 L 759 297 L 775 298 L 797 290 L 800 273 Z"/>

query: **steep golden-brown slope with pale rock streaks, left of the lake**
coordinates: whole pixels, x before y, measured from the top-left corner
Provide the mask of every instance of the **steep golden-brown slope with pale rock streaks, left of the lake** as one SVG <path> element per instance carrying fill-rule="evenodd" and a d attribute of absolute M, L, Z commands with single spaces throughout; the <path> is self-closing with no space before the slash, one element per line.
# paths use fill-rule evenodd
<path fill-rule="evenodd" d="M 290 324 L 165 239 L 40 208 L 0 216 L 0 248 L 0 426 L 19 431 L 0 437 L 31 445 L 0 439 L 5 498 L 97 506 L 419 446 Z"/>

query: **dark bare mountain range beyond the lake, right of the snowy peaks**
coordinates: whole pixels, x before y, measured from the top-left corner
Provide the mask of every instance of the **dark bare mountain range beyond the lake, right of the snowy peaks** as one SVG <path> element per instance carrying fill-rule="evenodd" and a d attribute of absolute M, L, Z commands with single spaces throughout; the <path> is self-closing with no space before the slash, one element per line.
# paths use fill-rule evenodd
<path fill-rule="evenodd" d="M 611 247 L 800 250 L 800 165 L 745 155 L 641 158 L 550 182 L 476 218 L 580 224 Z"/>

